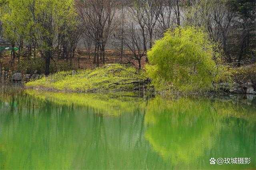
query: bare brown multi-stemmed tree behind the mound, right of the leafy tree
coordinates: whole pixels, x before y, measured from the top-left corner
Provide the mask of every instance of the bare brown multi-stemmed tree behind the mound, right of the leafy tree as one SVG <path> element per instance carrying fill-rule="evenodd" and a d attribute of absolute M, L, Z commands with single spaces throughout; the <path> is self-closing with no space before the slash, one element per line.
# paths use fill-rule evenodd
<path fill-rule="evenodd" d="M 105 46 L 116 27 L 116 0 L 84 0 L 80 2 L 78 11 L 82 18 L 87 36 L 95 42 L 95 55 L 97 66 L 99 66 L 99 53 L 102 63 L 105 63 Z"/>

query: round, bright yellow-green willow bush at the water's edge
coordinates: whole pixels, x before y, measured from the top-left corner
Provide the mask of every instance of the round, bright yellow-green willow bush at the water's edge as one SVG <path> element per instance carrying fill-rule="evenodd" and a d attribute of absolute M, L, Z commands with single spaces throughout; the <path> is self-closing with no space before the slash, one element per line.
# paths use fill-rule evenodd
<path fill-rule="evenodd" d="M 216 75 L 215 43 L 194 27 L 168 30 L 148 51 L 148 75 L 158 90 L 210 89 Z"/>

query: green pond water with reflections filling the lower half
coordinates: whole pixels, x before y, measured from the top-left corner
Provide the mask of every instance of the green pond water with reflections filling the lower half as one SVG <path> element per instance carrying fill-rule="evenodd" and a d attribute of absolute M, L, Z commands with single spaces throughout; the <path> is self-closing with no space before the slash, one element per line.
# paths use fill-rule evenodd
<path fill-rule="evenodd" d="M 0 94 L 0 169 L 256 169 L 256 98 Z"/>

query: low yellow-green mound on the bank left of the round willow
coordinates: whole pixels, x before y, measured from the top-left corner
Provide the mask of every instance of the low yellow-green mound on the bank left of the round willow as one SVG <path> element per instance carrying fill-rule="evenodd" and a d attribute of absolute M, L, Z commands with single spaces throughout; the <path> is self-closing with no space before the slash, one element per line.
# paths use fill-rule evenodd
<path fill-rule="evenodd" d="M 138 91 L 148 87 L 150 80 L 144 71 L 120 64 L 105 65 L 96 69 L 61 71 L 26 83 L 33 89 L 70 92 Z"/>

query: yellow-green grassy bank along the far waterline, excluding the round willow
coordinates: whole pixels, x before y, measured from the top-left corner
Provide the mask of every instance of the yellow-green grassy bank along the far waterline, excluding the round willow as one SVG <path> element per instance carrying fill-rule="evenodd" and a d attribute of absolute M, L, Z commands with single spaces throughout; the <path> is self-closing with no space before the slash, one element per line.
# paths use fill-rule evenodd
<path fill-rule="evenodd" d="M 255 85 L 255 64 L 245 67 L 232 68 L 226 67 L 222 70 L 222 81 L 210 83 L 207 88 L 198 88 L 194 91 L 180 89 L 180 86 L 164 81 L 164 79 L 148 78 L 148 72 L 141 70 L 138 72 L 134 67 L 125 67 L 120 64 L 108 64 L 96 69 L 78 70 L 76 73 L 72 71 L 60 71 L 48 77 L 42 77 L 39 80 L 30 81 L 25 84 L 30 89 L 43 89 L 50 91 L 63 92 L 116 92 L 116 91 L 143 91 L 152 90 L 156 87 L 156 93 L 166 94 L 212 94 L 224 93 L 222 87 L 218 83 L 234 82 L 239 85 L 252 82 Z M 224 77 L 224 78 L 223 78 Z M 162 80 L 162 81 L 161 81 Z M 191 85 L 190 81 L 184 83 L 184 87 Z M 157 88 L 162 87 L 161 89 Z M 193 85 L 194 88 L 195 85 Z M 230 87 L 232 88 L 232 86 Z"/>

